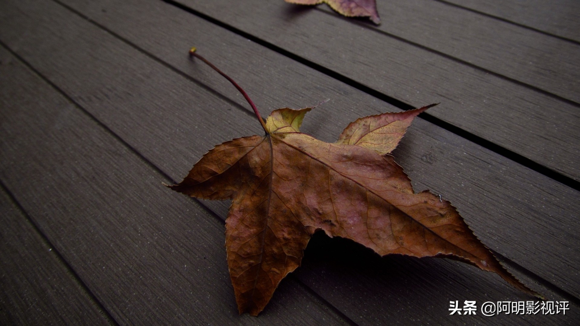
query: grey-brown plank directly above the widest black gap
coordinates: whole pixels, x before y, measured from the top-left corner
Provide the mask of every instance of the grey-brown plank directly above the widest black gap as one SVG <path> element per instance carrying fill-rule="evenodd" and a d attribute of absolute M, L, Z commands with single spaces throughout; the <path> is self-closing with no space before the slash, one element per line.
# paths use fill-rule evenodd
<path fill-rule="evenodd" d="M 281 1 L 181 2 L 398 100 L 441 102 L 430 114 L 580 180 L 577 104 L 321 10 Z"/>

